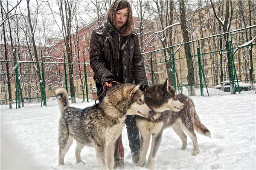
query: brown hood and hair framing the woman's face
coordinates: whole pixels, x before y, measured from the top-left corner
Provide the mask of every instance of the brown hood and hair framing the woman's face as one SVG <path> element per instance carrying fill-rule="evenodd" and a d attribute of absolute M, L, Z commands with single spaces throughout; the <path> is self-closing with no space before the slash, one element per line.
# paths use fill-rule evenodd
<path fill-rule="evenodd" d="M 108 17 L 113 24 L 114 27 L 116 27 L 116 11 L 128 8 L 128 19 L 125 23 L 124 26 L 121 27 L 119 32 L 122 35 L 130 35 L 132 30 L 133 30 L 133 19 L 132 19 L 132 10 L 131 10 L 131 5 L 127 0 L 115 0 L 112 4 L 111 7 L 108 10 Z"/>

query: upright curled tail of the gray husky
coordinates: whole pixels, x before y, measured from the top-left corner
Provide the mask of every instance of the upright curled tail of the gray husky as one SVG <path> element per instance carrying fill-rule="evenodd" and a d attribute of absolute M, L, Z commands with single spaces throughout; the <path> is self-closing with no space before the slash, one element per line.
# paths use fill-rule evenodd
<path fill-rule="evenodd" d="M 55 96 L 56 96 L 56 98 L 58 98 L 61 112 L 63 109 L 65 109 L 66 107 L 68 107 L 70 105 L 66 89 L 64 89 L 64 88 L 56 89 Z"/>

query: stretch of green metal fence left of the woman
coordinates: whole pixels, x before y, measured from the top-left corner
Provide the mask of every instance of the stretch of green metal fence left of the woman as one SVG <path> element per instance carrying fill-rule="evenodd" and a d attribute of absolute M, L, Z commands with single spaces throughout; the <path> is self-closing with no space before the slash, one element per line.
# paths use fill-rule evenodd
<path fill-rule="evenodd" d="M 42 52 L 41 58 L 43 58 Z M 85 59 L 83 63 L 68 63 L 65 58 L 66 56 L 64 55 L 64 61 L 62 59 L 63 62 L 17 61 L 15 50 L 15 61 L 1 60 L 1 65 L 8 63 L 10 68 L 14 69 L 14 71 L 10 70 L 12 71 L 10 73 L 12 80 L 12 108 L 20 108 L 22 103 L 23 107 L 56 105 L 57 101 L 55 100 L 54 89 L 58 87 L 64 87 L 70 95 L 68 64 L 72 64 L 74 67 L 72 76 L 74 79 L 76 102 L 89 102 L 90 99 L 93 99 L 93 94 L 96 93 L 96 91 L 93 90 L 95 83 L 92 78 L 92 73 L 87 74 L 86 72 L 89 63 L 86 63 Z M 41 65 L 41 82 L 38 81 L 38 75 L 35 70 L 36 63 L 40 63 Z M 4 69 L 0 69 L 0 110 L 9 109 L 9 94 L 7 83 L 4 81 L 7 80 L 6 76 Z M 15 79 L 13 78 L 14 76 Z M 40 83 L 42 84 L 42 88 L 39 85 Z M 20 85 L 22 88 L 20 88 Z M 20 96 L 20 91 L 22 91 L 23 98 Z"/>

